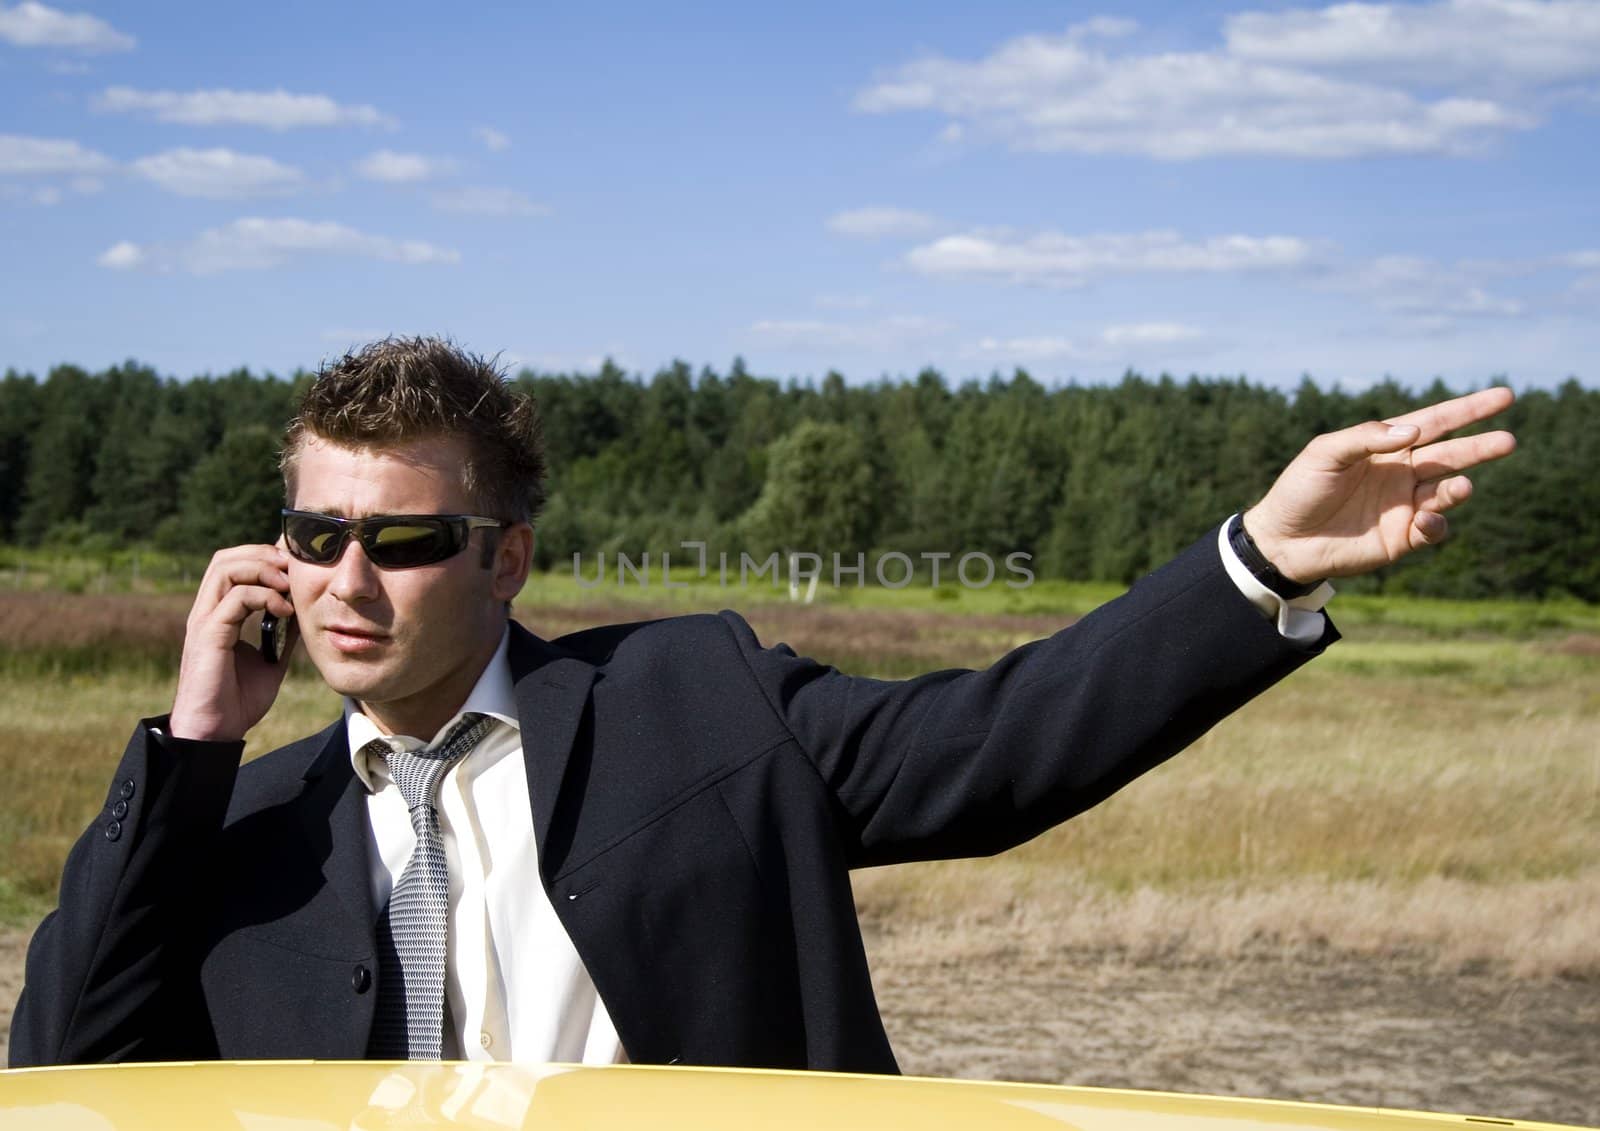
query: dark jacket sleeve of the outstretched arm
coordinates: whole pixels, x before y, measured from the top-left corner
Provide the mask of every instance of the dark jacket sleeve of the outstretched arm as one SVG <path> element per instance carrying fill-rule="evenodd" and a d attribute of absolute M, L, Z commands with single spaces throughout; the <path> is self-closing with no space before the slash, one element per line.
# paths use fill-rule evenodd
<path fill-rule="evenodd" d="M 742 624 L 742 622 L 741 622 Z M 851 865 L 986 856 L 1096 805 L 1338 638 L 1296 645 L 1238 592 L 1216 531 L 982 672 L 846 677 L 762 649 L 757 681 L 840 805 Z"/>

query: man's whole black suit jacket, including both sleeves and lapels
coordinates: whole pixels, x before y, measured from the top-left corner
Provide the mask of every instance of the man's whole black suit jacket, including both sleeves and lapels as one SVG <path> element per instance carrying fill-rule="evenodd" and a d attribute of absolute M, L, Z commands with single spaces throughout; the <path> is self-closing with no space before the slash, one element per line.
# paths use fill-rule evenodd
<path fill-rule="evenodd" d="M 632 1061 L 894 1072 L 848 869 L 1018 845 L 1334 635 L 1283 640 L 1214 533 L 982 672 L 848 677 L 733 613 L 514 625 L 541 878 Z M 152 723 L 29 950 L 11 1064 L 362 1057 L 371 833 L 342 725 L 240 766 Z"/>

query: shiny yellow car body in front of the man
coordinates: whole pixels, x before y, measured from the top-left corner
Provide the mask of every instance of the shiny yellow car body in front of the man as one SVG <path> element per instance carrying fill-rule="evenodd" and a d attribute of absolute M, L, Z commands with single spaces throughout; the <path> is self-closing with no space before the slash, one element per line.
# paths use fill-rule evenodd
<path fill-rule="evenodd" d="M 680 1067 L 253 1061 L 0 1072 L 5 1131 L 1488 1131 L 1554 1123 L 1053 1085 Z"/>

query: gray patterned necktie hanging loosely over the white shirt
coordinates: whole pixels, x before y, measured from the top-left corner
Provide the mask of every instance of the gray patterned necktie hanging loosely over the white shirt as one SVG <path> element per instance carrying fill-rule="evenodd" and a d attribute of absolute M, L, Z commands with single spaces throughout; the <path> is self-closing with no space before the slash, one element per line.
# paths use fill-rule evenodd
<path fill-rule="evenodd" d="M 376 1061 L 440 1057 L 450 872 L 434 803 L 445 773 L 493 726 L 488 715 L 467 713 L 443 741 L 424 750 L 390 750 L 381 739 L 368 744 L 368 753 L 389 760 L 416 830 L 416 849 L 378 920 L 378 1003 L 368 1046 Z"/>

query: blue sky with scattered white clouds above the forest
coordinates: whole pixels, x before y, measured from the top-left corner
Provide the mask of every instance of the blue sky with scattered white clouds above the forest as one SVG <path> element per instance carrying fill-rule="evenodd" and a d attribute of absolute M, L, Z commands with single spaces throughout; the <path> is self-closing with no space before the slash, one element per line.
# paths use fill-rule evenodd
<path fill-rule="evenodd" d="M 1600 0 L 0 0 L 0 366 L 1600 370 Z"/>

